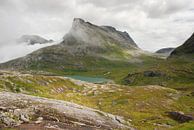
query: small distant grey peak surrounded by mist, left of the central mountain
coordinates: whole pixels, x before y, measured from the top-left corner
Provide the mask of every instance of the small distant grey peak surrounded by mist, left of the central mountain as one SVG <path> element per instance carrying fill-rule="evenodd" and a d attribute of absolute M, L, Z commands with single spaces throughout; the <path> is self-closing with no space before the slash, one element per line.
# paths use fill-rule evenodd
<path fill-rule="evenodd" d="M 26 42 L 28 45 L 34 45 L 34 44 L 44 44 L 44 43 L 52 42 L 52 40 L 47 40 L 38 35 L 23 35 L 17 40 L 17 42 L 19 43 Z"/>

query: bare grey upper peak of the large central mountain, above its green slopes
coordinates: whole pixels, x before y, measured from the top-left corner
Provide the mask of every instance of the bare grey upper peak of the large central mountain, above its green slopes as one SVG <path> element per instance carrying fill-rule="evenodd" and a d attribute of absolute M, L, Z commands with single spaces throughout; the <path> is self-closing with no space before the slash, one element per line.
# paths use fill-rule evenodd
<path fill-rule="evenodd" d="M 72 37 L 79 43 L 82 42 L 82 46 L 84 43 L 84 45 L 90 47 L 105 48 L 109 45 L 116 45 L 125 49 L 138 48 L 127 32 L 119 31 L 112 26 L 98 26 L 81 18 L 74 18 L 72 28 L 64 36 L 64 41 L 69 41 Z"/>

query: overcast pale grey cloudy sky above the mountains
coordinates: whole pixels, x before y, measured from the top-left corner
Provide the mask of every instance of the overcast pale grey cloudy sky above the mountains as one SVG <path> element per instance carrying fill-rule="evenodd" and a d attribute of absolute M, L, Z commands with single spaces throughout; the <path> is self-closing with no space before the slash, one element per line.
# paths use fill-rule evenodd
<path fill-rule="evenodd" d="M 0 0 L 0 47 L 23 34 L 59 40 L 74 17 L 127 31 L 155 51 L 194 32 L 194 0 Z"/>

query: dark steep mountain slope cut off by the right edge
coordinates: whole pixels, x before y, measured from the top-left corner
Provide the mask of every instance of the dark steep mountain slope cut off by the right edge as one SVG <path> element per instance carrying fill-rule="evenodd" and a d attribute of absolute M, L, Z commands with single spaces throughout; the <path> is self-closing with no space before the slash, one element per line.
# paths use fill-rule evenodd
<path fill-rule="evenodd" d="M 185 43 L 176 48 L 170 57 L 194 54 L 194 33 Z"/>

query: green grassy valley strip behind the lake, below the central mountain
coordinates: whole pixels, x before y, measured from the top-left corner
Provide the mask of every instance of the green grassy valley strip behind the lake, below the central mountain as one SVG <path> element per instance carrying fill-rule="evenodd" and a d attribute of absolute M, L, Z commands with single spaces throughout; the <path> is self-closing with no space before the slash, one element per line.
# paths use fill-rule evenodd
<path fill-rule="evenodd" d="M 77 65 L 65 64 L 63 62 L 56 63 L 50 61 L 38 61 L 28 64 L 27 69 L 22 70 L 29 71 L 30 73 L 45 72 L 51 75 L 105 77 L 121 84 L 123 78 L 125 78 L 128 73 L 146 70 L 156 66 L 158 62 L 164 61 L 163 59 L 146 55 L 139 56 L 138 58 L 120 58 L 117 60 L 85 56 L 66 59 L 64 62 L 68 62 L 68 60 L 70 60 L 71 63 L 76 63 Z M 53 59 L 52 61 L 56 60 Z"/>

